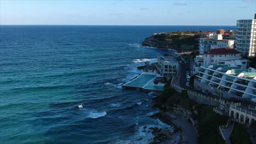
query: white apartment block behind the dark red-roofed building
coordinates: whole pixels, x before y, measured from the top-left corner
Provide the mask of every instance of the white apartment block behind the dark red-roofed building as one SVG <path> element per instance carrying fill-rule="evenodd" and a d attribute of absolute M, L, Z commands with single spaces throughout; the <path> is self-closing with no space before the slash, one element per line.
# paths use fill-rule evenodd
<path fill-rule="evenodd" d="M 200 38 L 199 39 L 199 54 L 203 55 L 203 52 L 216 49 L 216 48 L 222 48 L 222 47 L 230 47 L 231 49 L 234 49 L 234 43 L 235 40 L 228 40 L 228 39 L 222 39 L 222 36 L 214 36 L 215 39 L 210 38 Z"/>

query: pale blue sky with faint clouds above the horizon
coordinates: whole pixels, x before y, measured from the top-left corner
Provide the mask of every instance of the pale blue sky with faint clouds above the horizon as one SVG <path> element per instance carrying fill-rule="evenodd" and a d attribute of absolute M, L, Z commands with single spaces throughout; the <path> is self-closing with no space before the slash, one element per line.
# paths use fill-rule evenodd
<path fill-rule="evenodd" d="M 235 26 L 256 0 L 0 0 L 0 25 Z"/>

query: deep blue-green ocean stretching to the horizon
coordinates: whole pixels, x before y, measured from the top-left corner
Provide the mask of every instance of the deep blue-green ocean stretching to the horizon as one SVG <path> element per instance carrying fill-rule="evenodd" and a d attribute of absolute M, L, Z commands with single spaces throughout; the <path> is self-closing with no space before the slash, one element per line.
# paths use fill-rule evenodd
<path fill-rule="evenodd" d="M 234 26 L 0 26 L 0 143 L 148 143 L 152 93 L 122 89 L 170 50 L 153 33 Z M 84 109 L 75 106 L 83 104 Z"/>

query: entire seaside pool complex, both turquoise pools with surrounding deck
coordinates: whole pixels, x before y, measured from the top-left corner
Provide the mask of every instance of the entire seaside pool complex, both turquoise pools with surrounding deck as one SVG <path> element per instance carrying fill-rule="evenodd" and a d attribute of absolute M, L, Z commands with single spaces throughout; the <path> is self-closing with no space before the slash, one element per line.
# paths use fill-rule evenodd
<path fill-rule="evenodd" d="M 142 91 L 154 92 L 154 91 L 164 91 L 164 85 L 155 85 L 154 79 L 156 74 L 153 73 L 142 73 L 135 79 L 125 83 L 124 88 L 140 89 Z"/>

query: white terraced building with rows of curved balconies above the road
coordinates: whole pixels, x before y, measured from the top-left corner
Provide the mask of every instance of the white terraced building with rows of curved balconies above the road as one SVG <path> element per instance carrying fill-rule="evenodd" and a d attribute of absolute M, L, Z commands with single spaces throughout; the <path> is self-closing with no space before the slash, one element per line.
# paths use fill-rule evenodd
<path fill-rule="evenodd" d="M 245 98 L 256 101 L 256 70 L 228 65 L 201 66 L 194 87 L 220 97 Z"/>

